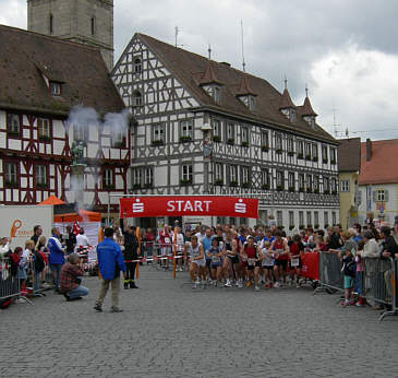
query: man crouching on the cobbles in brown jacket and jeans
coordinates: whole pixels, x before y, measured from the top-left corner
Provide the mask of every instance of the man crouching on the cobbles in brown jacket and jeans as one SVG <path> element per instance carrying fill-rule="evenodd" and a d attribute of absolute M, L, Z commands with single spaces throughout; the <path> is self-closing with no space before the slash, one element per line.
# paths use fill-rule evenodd
<path fill-rule="evenodd" d="M 68 256 L 68 262 L 62 265 L 60 273 L 60 292 L 67 300 L 82 299 L 88 294 L 88 288 L 81 285 L 84 270 L 77 253 Z"/>

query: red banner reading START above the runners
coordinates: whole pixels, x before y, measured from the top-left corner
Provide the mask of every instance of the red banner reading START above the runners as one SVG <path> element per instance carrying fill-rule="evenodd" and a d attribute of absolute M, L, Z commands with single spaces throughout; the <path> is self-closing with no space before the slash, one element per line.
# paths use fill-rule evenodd
<path fill-rule="evenodd" d="M 120 217 L 234 216 L 257 218 L 258 200 L 218 196 L 121 198 Z"/>

